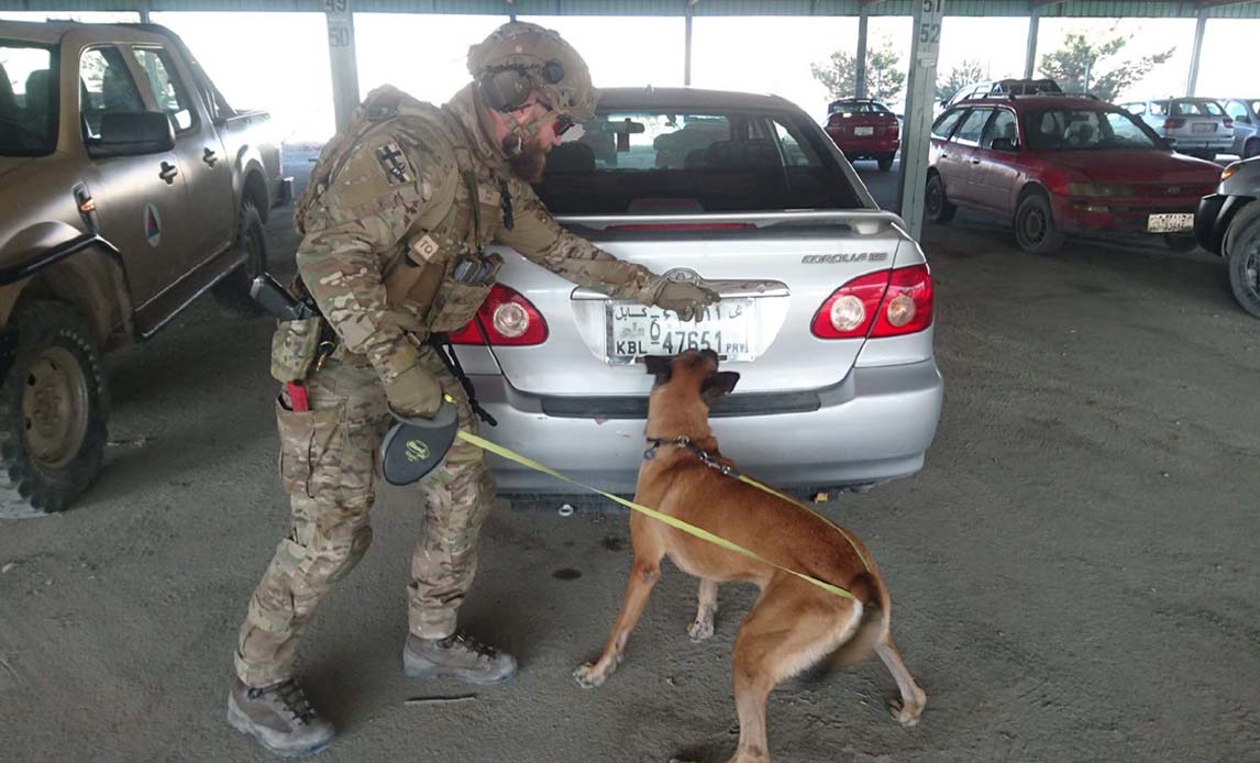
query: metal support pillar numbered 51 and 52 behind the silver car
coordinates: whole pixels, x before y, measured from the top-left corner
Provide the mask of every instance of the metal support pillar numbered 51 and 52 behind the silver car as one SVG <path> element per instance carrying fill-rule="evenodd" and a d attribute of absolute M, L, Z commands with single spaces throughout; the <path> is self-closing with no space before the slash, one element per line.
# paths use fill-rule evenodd
<path fill-rule="evenodd" d="M 910 48 L 906 122 L 901 133 L 901 176 L 897 200 L 901 218 L 916 239 L 924 229 L 927 150 L 936 101 L 936 59 L 941 44 L 945 0 L 915 3 L 915 39 Z"/>

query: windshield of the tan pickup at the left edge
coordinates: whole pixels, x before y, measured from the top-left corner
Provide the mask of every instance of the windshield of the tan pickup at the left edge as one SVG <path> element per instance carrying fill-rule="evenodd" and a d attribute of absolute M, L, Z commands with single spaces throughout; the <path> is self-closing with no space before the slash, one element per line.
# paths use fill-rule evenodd
<path fill-rule="evenodd" d="M 0 155 L 42 156 L 57 149 L 53 50 L 0 40 Z"/>

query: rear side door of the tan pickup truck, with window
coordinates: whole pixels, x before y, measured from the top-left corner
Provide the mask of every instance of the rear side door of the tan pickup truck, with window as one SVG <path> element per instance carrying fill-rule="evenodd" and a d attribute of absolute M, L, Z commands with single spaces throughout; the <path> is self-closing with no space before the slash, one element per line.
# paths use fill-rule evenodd
<path fill-rule="evenodd" d="M 134 45 L 142 73 L 141 89 L 151 110 L 170 118 L 175 131 L 175 154 L 188 188 L 193 214 L 186 269 L 192 271 L 232 243 L 236 200 L 232 193 L 233 157 L 224 155 L 218 130 L 209 113 L 198 108 L 192 78 L 183 63 L 160 45 Z"/>

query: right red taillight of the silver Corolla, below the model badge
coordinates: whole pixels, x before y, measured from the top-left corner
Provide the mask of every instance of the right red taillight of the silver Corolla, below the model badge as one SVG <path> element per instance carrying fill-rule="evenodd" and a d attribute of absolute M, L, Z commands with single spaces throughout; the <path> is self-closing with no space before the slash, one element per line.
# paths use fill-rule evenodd
<path fill-rule="evenodd" d="M 814 315 L 819 339 L 898 336 L 932 322 L 932 277 L 926 264 L 867 273 L 835 290 Z"/>

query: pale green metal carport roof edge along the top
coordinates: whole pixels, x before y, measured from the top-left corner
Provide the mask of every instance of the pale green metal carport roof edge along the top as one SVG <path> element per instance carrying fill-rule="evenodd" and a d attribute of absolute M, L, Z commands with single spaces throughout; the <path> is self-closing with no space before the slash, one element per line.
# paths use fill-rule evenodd
<path fill-rule="evenodd" d="M 326 0 L 0 0 L 0 11 L 309 11 Z M 518 16 L 910 16 L 915 0 L 354 0 L 355 13 Z M 1260 19 L 1260 0 L 956 0 L 950 16 Z"/>

